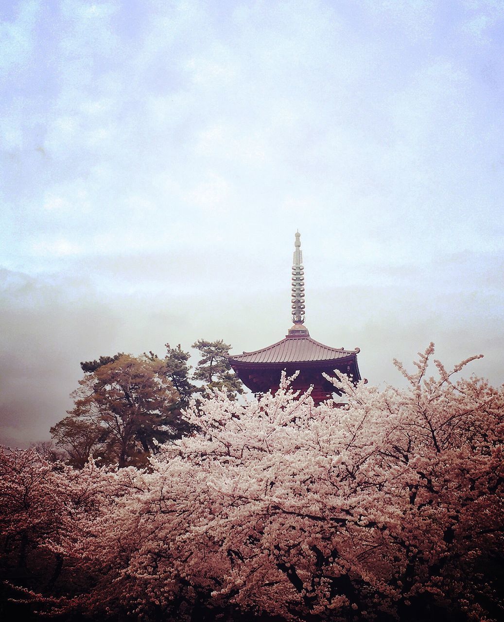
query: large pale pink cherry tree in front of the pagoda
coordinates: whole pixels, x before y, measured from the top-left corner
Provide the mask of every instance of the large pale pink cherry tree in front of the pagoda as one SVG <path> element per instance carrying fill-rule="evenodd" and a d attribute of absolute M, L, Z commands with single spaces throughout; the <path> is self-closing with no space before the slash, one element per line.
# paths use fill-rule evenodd
<path fill-rule="evenodd" d="M 396 363 L 406 390 L 334 379 L 343 408 L 314 407 L 287 378 L 259 401 L 216 390 L 185 414 L 197 432 L 149 468 L 88 466 L 70 488 L 95 482 L 91 511 L 63 512 L 47 544 L 73 577 L 52 611 L 502 618 L 504 392 L 455 380 L 478 357 L 429 376 L 433 352 L 414 373 Z"/>

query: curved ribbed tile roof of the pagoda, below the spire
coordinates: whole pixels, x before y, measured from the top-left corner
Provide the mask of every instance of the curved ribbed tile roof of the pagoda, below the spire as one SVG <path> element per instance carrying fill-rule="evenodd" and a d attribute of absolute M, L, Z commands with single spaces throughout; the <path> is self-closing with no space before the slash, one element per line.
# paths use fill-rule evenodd
<path fill-rule="evenodd" d="M 330 348 L 307 335 L 289 336 L 267 348 L 228 357 L 237 363 L 297 363 L 299 361 L 334 361 L 358 354 L 360 350 Z"/>

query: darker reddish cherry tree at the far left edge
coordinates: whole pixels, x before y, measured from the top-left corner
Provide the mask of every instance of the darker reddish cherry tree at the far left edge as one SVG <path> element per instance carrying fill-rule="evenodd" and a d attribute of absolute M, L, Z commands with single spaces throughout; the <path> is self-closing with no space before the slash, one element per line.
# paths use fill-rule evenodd
<path fill-rule="evenodd" d="M 72 548 L 72 534 L 112 514 L 117 499 L 128 492 L 128 469 L 119 476 L 90 461 L 77 470 L 47 460 L 37 448 L 0 448 L 2 619 L 20 613 L 26 618 L 34 607 L 55 611 L 74 595 L 75 606 L 67 611 L 78 611 L 79 596 L 99 577 L 86 572 L 85 554 Z M 79 541 L 89 535 L 81 534 Z M 94 615 L 89 608 L 86 613 Z"/>

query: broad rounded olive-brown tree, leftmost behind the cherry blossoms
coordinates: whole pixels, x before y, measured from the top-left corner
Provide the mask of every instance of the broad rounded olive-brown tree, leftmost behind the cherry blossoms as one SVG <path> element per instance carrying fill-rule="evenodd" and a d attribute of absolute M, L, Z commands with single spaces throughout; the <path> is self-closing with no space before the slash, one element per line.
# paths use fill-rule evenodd
<path fill-rule="evenodd" d="M 142 465 L 156 451 L 156 442 L 180 438 L 189 430 L 174 408 L 179 394 L 162 360 L 113 357 L 79 384 L 75 407 L 51 429 L 74 466 L 82 467 L 90 455 L 120 467 Z"/>

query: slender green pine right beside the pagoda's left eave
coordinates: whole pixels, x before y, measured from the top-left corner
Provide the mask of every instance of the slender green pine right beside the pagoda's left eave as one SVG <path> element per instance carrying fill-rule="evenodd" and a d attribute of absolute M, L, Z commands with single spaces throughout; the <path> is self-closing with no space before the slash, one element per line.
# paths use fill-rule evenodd
<path fill-rule="evenodd" d="M 193 378 L 202 381 L 200 392 L 208 389 L 226 389 L 231 399 L 236 399 L 237 393 L 243 393 L 243 384 L 235 375 L 228 361 L 231 346 L 222 339 L 207 341 L 198 339 L 192 345 L 199 350 L 202 358 L 198 361 Z"/>

